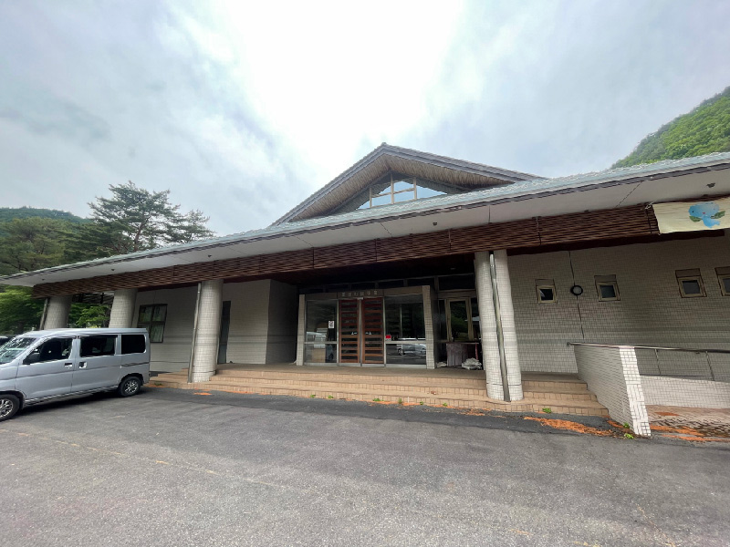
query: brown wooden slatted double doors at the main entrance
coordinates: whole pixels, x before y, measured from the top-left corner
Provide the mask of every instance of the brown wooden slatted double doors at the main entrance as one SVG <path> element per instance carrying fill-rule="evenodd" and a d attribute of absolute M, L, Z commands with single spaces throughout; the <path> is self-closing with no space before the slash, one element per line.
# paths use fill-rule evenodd
<path fill-rule="evenodd" d="M 382 298 L 339 301 L 339 363 L 385 365 Z"/>

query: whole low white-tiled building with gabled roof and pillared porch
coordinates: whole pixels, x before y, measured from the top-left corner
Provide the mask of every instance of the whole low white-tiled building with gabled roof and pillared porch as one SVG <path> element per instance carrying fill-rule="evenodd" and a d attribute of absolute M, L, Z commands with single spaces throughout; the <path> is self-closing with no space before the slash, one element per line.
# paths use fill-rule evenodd
<path fill-rule="evenodd" d="M 702 378 L 698 397 L 730 407 L 728 168 L 716 153 L 545 179 L 382 144 L 265 229 L 0 281 L 47 299 L 45 328 L 113 293 L 111 325 L 146 326 L 152 367 L 193 382 L 231 362 L 474 356 L 491 399 L 520 400 L 527 372 L 579 374 L 648 434 L 636 386 L 664 400 L 662 382 Z"/>

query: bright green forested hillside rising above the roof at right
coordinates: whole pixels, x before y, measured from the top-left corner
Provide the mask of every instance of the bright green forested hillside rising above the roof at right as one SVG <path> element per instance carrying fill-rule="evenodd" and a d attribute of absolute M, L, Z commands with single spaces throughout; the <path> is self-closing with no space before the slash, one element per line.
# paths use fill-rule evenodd
<path fill-rule="evenodd" d="M 612 167 L 730 151 L 730 87 L 647 135 Z"/>

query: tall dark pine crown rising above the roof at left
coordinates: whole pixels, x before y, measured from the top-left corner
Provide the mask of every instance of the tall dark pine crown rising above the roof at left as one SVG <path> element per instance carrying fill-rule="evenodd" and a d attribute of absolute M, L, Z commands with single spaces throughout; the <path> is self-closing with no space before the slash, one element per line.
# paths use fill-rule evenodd
<path fill-rule="evenodd" d="M 109 188 L 110 198 L 89 203 L 92 222 L 81 226 L 86 242 L 92 243 L 91 253 L 136 253 L 214 235 L 205 226 L 209 218 L 200 211 L 180 213 L 169 190 L 148 191 L 132 181 Z"/>

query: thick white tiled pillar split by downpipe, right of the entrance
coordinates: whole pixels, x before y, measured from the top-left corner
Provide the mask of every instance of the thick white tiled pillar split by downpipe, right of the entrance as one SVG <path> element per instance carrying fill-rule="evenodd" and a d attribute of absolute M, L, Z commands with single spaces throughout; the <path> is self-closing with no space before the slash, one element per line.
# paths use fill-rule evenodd
<path fill-rule="evenodd" d="M 512 306 L 512 290 L 509 282 L 506 251 L 495 251 L 497 294 L 499 296 L 500 323 L 505 353 L 507 384 L 510 400 L 523 398 L 522 373 L 517 356 L 515 311 Z M 485 367 L 486 394 L 490 398 L 504 400 L 502 384 L 499 335 L 495 315 L 495 299 L 489 253 L 474 253 L 474 277 L 476 296 L 479 303 L 479 325 L 482 331 L 482 363 Z"/>

